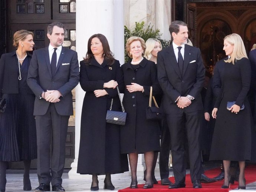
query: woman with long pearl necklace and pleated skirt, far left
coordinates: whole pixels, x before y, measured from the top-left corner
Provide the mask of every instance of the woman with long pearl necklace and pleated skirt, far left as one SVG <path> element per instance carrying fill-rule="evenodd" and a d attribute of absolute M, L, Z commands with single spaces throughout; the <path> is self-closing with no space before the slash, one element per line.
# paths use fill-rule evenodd
<path fill-rule="evenodd" d="M 13 35 L 16 52 L 0 59 L 0 97 L 6 98 L 6 109 L 0 113 L 0 191 L 6 187 L 8 162 L 24 163 L 23 190 L 30 191 L 29 169 L 37 158 L 36 122 L 33 116 L 35 95 L 27 86 L 27 72 L 33 51 L 34 34 L 19 30 Z"/>

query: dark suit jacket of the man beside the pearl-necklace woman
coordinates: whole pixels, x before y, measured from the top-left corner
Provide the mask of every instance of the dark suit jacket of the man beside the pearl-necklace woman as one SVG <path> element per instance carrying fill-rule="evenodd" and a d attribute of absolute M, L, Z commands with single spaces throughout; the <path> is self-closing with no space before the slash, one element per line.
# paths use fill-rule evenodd
<path fill-rule="evenodd" d="M 48 47 L 35 50 L 29 66 L 27 85 L 36 95 L 34 115 L 45 115 L 50 102 L 40 99 L 46 90 L 58 90 L 62 97 L 54 103 L 59 115 L 73 115 L 72 89 L 79 82 L 77 53 L 62 47 L 55 74 L 52 76 Z"/>

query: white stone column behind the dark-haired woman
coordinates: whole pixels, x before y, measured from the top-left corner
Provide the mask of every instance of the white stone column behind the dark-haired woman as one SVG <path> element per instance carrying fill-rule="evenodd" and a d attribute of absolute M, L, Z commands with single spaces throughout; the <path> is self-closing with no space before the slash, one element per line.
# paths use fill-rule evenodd
<path fill-rule="evenodd" d="M 76 0 L 76 52 L 78 60 L 83 60 L 87 52 L 88 39 L 95 33 L 106 36 L 115 59 L 124 63 L 124 3 L 119 0 Z M 81 86 L 76 87 L 75 115 L 75 160 L 71 164 L 69 178 L 91 178 L 89 175 L 76 173 L 80 123 L 85 92 Z"/>

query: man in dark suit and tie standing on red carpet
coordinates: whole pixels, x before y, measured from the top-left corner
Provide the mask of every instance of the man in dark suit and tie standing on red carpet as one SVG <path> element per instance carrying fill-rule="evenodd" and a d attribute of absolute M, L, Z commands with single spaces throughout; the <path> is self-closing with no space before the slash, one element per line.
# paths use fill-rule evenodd
<path fill-rule="evenodd" d="M 171 135 L 175 183 L 170 189 L 183 188 L 186 176 L 184 132 L 188 139 L 190 174 L 193 188 L 201 188 L 200 129 L 203 117 L 201 89 L 205 68 L 198 48 L 187 45 L 188 29 L 183 21 L 169 27 L 173 43 L 157 54 L 158 81 L 163 89 L 162 104 Z"/>

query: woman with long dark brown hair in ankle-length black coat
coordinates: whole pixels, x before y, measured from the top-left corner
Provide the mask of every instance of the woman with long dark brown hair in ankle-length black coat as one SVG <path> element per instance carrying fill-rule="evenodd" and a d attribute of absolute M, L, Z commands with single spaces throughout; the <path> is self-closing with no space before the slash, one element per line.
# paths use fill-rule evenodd
<path fill-rule="evenodd" d="M 121 111 L 115 88 L 122 83 L 120 63 L 112 56 L 106 37 L 94 34 L 88 40 L 86 58 L 80 62 L 80 85 L 86 93 L 77 169 L 92 175 L 92 191 L 99 190 L 97 175 L 105 174 L 104 189 L 114 190 L 111 174 L 129 171 L 127 155 L 120 154 L 120 127 L 106 123 L 112 98 L 112 110 Z"/>

